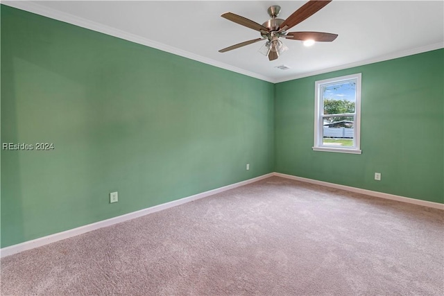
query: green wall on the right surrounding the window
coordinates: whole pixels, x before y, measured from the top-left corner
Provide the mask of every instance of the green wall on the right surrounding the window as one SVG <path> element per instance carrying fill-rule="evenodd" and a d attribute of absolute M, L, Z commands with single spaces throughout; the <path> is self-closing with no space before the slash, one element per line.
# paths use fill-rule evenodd
<path fill-rule="evenodd" d="M 353 73 L 362 73 L 362 154 L 311 150 L 315 81 Z M 440 49 L 278 83 L 275 171 L 444 202 L 443 81 Z"/>

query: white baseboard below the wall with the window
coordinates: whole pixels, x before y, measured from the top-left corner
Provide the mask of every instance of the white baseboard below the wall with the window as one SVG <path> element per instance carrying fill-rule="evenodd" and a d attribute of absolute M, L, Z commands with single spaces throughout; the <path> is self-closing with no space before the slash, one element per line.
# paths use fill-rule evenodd
<path fill-rule="evenodd" d="M 360 189 L 360 188 L 356 188 L 356 187 L 339 185 L 339 184 L 318 181 L 318 180 L 313 180 L 313 179 L 307 179 L 305 177 L 296 177 L 293 175 L 287 175 L 287 174 L 282 174 L 282 173 L 273 173 L 273 175 L 278 176 L 278 177 L 284 177 L 284 178 L 291 179 L 291 180 L 307 182 L 307 183 L 311 183 L 311 184 L 317 184 L 317 185 L 332 187 L 332 188 L 336 188 L 336 189 L 342 189 L 345 191 L 362 193 L 362 194 L 366 194 L 366 195 L 375 196 L 377 198 L 385 198 L 387 200 L 397 200 L 398 202 L 407 202 L 409 204 L 418 204 L 423 207 L 444 209 L 444 204 L 440 204 L 439 202 L 428 202 L 427 200 L 417 200 L 415 198 L 405 198 L 404 196 L 400 196 L 400 195 L 394 195 L 394 194 L 383 193 L 383 192 L 378 192 L 378 191 L 371 191 L 371 190 L 367 190 L 367 189 Z"/>

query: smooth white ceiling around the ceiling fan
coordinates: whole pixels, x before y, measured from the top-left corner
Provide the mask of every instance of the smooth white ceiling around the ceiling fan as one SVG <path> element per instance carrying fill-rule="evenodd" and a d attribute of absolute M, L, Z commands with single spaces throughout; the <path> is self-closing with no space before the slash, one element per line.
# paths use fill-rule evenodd
<path fill-rule="evenodd" d="M 295 40 L 278 60 L 258 52 L 265 41 L 219 53 L 260 37 L 223 19 L 233 12 L 259 24 L 271 5 L 285 19 L 306 1 L 2 1 L 71 24 L 230 69 L 271 82 L 388 60 L 444 46 L 444 1 L 332 1 L 289 31 L 339 35 L 305 47 Z M 291 69 L 275 66 L 285 64 Z"/>

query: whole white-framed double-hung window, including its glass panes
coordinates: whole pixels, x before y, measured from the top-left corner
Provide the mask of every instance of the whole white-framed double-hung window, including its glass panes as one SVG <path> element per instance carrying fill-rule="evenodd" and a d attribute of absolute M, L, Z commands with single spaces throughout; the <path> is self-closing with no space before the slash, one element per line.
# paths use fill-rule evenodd
<path fill-rule="evenodd" d="M 316 81 L 316 151 L 361 154 L 361 73 Z"/>

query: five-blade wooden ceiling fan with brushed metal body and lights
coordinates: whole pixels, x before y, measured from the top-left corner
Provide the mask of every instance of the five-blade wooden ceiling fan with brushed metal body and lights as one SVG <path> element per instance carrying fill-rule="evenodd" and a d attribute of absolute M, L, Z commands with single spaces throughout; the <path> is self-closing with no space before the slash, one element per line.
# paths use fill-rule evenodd
<path fill-rule="evenodd" d="M 221 49 L 219 52 L 225 53 L 226 51 L 239 49 L 239 47 L 246 46 L 248 44 L 253 44 L 261 40 L 267 40 L 266 44 L 264 44 L 264 46 L 262 46 L 259 51 L 264 55 L 267 55 L 268 60 L 276 60 L 277 58 L 279 58 L 279 55 L 282 52 L 288 49 L 287 46 L 285 46 L 282 41 L 279 40 L 280 37 L 284 37 L 288 40 L 332 42 L 336 39 L 336 37 L 338 37 L 337 34 L 322 32 L 287 32 L 289 28 L 296 26 L 308 17 L 311 17 L 311 15 L 314 15 L 331 1 L 332 0 L 308 1 L 285 20 L 276 18 L 278 17 L 280 12 L 280 6 L 270 6 L 267 11 L 271 19 L 268 19 L 268 21 L 264 22 L 264 24 L 262 25 L 257 24 L 255 21 L 252 21 L 245 17 L 241 17 L 240 15 L 235 15 L 232 12 L 226 12 L 221 15 L 221 17 L 224 17 L 225 19 L 228 19 L 230 21 L 234 21 L 235 23 L 242 26 L 246 26 L 248 28 L 252 28 L 253 30 L 259 31 L 262 37 L 228 46 L 225 49 Z"/>

